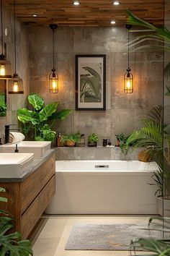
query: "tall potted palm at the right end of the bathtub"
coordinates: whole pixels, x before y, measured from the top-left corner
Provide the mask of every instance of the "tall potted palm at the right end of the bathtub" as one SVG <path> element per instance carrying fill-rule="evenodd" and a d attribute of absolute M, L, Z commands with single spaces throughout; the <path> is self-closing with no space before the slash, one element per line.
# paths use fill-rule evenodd
<path fill-rule="evenodd" d="M 168 125 L 164 123 L 162 106 L 152 108 L 142 121 L 143 127 L 128 137 L 126 148 L 132 143 L 133 149 L 144 147 L 143 154 L 149 154 L 158 163 L 159 170 L 153 173 L 151 185 L 158 187 L 158 213 L 162 213 L 164 199 L 164 216 L 170 216 L 170 134 L 167 132 Z"/>

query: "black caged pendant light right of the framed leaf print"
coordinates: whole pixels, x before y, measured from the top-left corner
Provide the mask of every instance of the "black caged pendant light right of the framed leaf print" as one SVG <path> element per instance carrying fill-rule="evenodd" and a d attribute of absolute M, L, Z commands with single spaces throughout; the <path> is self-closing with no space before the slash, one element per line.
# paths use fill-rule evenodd
<path fill-rule="evenodd" d="M 125 28 L 128 29 L 128 69 L 126 69 L 126 72 L 124 74 L 124 93 L 133 93 L 133 74 L 130 72 L 130 65 L 129 65 L 129 30 L 132 27 L 132 25 L 126 24 Z"/>

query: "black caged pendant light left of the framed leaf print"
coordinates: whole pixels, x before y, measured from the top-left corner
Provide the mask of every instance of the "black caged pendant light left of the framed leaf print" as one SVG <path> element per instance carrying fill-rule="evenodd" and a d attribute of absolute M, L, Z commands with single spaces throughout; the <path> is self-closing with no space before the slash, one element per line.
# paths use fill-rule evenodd
<path fill-rule="evenodd" d="M 56 73 L 54 67 L 54 33 L 55 29 L 58 27 L 56 24 L 50 24 L 50 28 L 53 30 L 53 69 L 49 76 L 49 90 L 50 93 L 58 93 L 58 74 Z"/>

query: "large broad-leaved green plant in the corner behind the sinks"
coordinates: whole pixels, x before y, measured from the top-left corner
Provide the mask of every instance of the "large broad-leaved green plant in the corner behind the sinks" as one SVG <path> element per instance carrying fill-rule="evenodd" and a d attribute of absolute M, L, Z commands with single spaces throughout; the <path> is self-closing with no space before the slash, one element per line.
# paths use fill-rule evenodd
<path fill-rule="evenodd" d="M 69 109 L 57 111 L 58 102 L 45 105 L 40 95 L 31 93 L 27 97 L 32 109 L 19 108 L 17 118 L 22 122 L 24 135 L 32 137 L 33 140 L 53 141 L 55 131 L 53 126 L 56 120 L 63 120 L 71 113 Z"/>

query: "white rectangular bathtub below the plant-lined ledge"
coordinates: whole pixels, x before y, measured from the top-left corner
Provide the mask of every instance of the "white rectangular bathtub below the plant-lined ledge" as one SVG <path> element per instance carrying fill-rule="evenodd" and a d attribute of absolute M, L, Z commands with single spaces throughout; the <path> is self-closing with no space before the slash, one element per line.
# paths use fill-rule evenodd
<path fill-rule="evenodd" d="M 140 161 L 56 161 L 55 196 L 48 214 L 156 214 L 151 176 Z"/>

